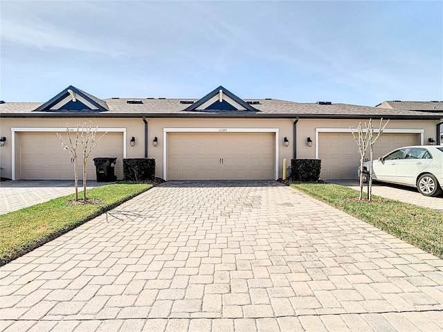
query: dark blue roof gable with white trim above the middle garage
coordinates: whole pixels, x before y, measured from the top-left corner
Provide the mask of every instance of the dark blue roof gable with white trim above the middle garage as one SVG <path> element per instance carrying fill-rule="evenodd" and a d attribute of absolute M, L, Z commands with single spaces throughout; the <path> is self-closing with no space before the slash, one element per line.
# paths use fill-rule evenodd
<path fill-rule="evenodd" d="M 214 89 L 204 98 L 183 109 L 183 111 L 211 113 L 260 112 L 223 86 Z"/>

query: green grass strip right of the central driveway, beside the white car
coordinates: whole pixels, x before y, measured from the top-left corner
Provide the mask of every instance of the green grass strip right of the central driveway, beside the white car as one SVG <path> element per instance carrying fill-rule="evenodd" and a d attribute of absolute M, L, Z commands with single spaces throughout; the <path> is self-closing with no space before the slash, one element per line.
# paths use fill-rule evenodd
<path fill-rule="evenodd" d="M 358 199 L 359 192 L 330 183 L 300 183 L 291 187 L 443 258 L 443 212 L 379 196 L 373 196 L 375 201 L 371 203 L 350 200 Z"/>

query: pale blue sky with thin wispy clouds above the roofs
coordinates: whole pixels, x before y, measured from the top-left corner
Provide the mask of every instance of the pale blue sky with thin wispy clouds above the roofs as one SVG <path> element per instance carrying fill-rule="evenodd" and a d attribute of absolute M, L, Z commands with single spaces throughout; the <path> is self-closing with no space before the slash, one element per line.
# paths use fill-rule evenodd
<path fill-rule="evenodd" d="M 443 1 L 0 0 L 0 100 L 443 100 Z"/>

